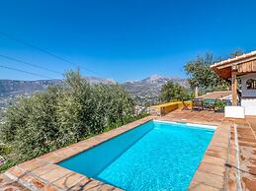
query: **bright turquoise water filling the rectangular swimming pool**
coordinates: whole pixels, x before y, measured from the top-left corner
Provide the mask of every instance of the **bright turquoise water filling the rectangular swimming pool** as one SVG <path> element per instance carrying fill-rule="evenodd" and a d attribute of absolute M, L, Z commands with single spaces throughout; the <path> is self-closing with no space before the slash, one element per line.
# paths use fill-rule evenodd
<path fill-rule="evenodd" d="M 150 121 L 59 165 L 125 190 L 187 190 L 211 128 Z"/>

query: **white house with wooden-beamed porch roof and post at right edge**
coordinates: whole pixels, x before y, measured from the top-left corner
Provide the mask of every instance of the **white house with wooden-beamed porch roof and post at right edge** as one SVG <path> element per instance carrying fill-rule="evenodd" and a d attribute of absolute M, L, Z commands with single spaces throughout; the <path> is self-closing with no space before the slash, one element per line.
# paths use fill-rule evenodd
<path fill-rule="evenodd" d="M 231 81 L 232 106 L 225 108 L 225 116 L 256 116 L 256 51 L 214 63 L 211 69 L 220 78 Z M 237 78 L 241 79 L 240 102 L 237 98 Z"/>

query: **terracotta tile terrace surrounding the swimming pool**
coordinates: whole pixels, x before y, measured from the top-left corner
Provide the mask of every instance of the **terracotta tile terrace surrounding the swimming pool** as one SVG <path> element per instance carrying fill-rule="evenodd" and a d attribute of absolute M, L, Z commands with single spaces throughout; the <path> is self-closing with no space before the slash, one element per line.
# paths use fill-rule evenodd
<path fill-rule="evenodd" d="M 0 190 L 120 190 L 55 163 L 68 159 L 151 119 L 217 126 L 189 190 L 256 190 L 256 118 L 226 119 L 213 111 L 175 110 L 18 164 L 0 174 Z"/>

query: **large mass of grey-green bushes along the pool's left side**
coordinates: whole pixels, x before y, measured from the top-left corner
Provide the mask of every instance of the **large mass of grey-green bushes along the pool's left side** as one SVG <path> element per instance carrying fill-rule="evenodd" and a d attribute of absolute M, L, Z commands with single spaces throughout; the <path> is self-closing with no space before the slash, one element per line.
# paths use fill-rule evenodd
<path fill-rule="evenodd" d="M 11 147 L 12 163 L 33 159 L 87 137 L 128 123 L 134 115 L 130 96 L 119 85 L 90 85 L 79 72 L 65 74 L 63 86 L 50 87 L 10 106 L 0 127 Z"/>

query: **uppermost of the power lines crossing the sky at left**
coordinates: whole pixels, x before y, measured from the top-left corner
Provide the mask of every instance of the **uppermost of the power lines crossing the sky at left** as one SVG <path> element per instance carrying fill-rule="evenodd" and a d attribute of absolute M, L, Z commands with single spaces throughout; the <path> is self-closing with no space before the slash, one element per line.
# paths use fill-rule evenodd
<path fill-rule="evenodd" d="M 102 77 L 102 78 L 105 78 L 104 76 L 102 76 L 102 75 L 100 75 L 100 74 L 98 74 L 98 73 L 96 73 L 96 72 L 94 72 L 94 71 L 92 71 L 92 70 L 89 70 L 89 69 L 87 69 L 87 68 L 85 68 L 85 67 L 83 67 L 83 66 L 79 66 L 79 65 L 77 65 L 77 64 L 75 64 L 75 63 L 73 63 L 73 62 L 71 62 L 70 60 L 66 59 L 66 58 L 63 58 L 63 57 L 58 56 L 58 55 L 56 55 L 56 54 L 53 54 L 53 53 L 51 53 L 51 52 L 49 52 L 49 51 L 47 51 L 47 50 L 45 50 L 45 49 L 43 49 L 43 48 L 41 48 L 41 47 L 39 47 L 39 46 L 36 46 L 36 45 L 31 44 L 31 43 L 29 43 L 29 42 L 27 42 L 27 41 L 25 41 L 25 40 L 23 40 L 23 39 L 14 37 L 14 36 L 12 36 L 12 35 L 6 33 L 6 32 L 0 32 L 0 34 L 3 35 L 3 36 L 5 36 L 5 37 L 8 37 L 8 38 L 10 38 L 10 39 L 13 39 L 13 40 L 15 40 L 15 41 L 18 41 L 18 42 L 20 42 L 20 43 L 23 43 L 23 44 L 25 44 L 25 45 L 27 45 L 27 46 L 29 46 L 29 47 L 32 47 L 32 48 L 34 48 L 34 49 L 37 49 L 37 50 L 39 50 L 39 51 L 41 51 L 41 52 L 43 52 L 43 53 L 45 53 L 45 54 L 48 54 L 48 55 L 50 55 L 50 56 L 52 56 L 52 57 L 54 57 L 54 58 L 56 58 L 56 59 L 59 59 L 59 60 L 61 60 L 61 61 L 63 61 L 63 62 L 72 64 L 72 65 L 74 65 L 75 67 L 80 67 L 80 68 L 82 68 L 82 69 L 84 69 L 84 70 L 86 70 L 86 71 L 88 71 L 88 72 L 91 72 L 91 73 L 97 75 L 97 76 L 100 76 L 100 77 Z"/>

